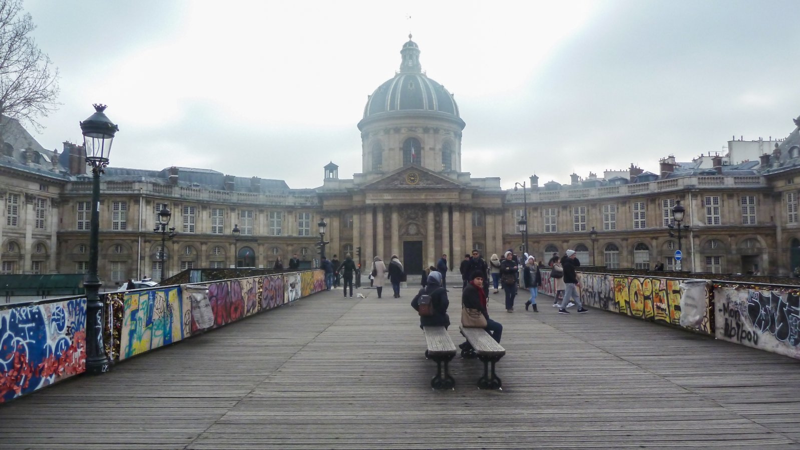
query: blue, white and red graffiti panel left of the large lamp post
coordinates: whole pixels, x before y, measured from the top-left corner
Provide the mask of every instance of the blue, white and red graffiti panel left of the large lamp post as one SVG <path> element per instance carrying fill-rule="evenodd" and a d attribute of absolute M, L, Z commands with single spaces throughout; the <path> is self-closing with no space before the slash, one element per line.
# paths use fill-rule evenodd
<path fill-rule="evenodd" d="M 0 403 L 85 369 L 85 298 L 0 311 Z"/>

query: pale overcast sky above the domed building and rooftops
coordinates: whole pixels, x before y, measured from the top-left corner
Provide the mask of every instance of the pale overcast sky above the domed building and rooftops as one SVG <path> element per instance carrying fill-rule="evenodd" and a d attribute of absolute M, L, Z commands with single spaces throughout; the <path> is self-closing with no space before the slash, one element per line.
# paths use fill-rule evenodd
<path fill-rule="evenodd" d="M 797 6 L 26 0 L 62 90 L 34 137 L 81 141 L 78 121 L 100 102 L 120 129 L 113 166 L 314 188 L 334 161 L 350 178 L 367 95 L 411 32 L 422 69 L 455 94 L 473 177 L 510 188 L 534 173 L 543 185 L 631 163 L 657 172 L 670 153 L 690 161 L 733 135 L 794 129 Z"/>

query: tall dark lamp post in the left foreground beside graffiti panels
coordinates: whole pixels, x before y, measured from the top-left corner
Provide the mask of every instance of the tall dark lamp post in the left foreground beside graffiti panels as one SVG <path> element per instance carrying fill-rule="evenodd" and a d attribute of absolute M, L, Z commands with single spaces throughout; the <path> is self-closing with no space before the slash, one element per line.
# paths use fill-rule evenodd
<path fill-rule="evenodd" d="M 83 282 L 86 290 L 86 373 L 108 372 L 110 360 L 103 343 L 103 302 L 100 300 L 98 246 L 100 241 L 100 174 L 108 165 L 111 144 L 119 127 L 106 117 L 105 105 L 94 105 L 94 114 L 80 122 L 86 165 L 92 168 L 92 212 L 89 234 L 89 273 Z"/>

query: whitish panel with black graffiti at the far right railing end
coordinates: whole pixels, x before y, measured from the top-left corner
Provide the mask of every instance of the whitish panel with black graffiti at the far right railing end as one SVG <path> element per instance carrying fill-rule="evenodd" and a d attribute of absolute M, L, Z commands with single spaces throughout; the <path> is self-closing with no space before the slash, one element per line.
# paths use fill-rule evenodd
<path fill-rule="evenodd" d="M 760 289 L 714 289 L 716 337 L 800 359 L 800 297 Z"/>

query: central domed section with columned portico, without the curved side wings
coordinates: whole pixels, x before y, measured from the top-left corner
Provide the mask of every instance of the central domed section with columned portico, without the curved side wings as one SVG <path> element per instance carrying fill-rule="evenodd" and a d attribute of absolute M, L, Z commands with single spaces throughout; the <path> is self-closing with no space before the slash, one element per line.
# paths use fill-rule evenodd
<path fill-rule="evenodd" d="M 458 265 L 472 248 L 502 246 L 504 193 L 499 178 L 462 172 L 466 124 L 453 94 L 422 71 L 411 35 L 400 54 L 358 122 L 362 173 L 340 180 L 326 168 L 318 195 L 334 249 L 361 248 L 365 264 L 397 254 L 420 273 L 442 253 Z"/>

